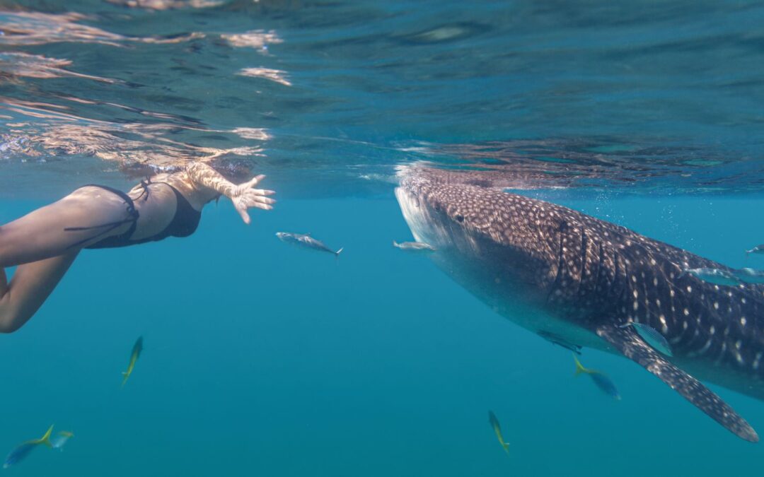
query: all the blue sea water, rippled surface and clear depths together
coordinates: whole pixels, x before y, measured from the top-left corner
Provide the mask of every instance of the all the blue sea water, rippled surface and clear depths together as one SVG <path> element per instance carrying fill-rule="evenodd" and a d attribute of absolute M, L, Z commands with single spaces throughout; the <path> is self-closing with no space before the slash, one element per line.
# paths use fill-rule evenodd
<path fill-rule="evenodd" d="M 391 242 L 411 240 L 396 169 L 426 161 L 764 268 L 743 253 L 764 242 L 764 6 L 202 3 L 0 2 L 0 224 L 190 160 L 265 172 L 279 199 L 249 227 L 224 199 L 192 237 L 81 253 L 0 337 L 0 453 L 75 437 L 5 472 L 759 474 L 761 443 L 644 369 L 584 350 L 611 400 Z M 764 429 L 761 401 L 711 388 Z"/>

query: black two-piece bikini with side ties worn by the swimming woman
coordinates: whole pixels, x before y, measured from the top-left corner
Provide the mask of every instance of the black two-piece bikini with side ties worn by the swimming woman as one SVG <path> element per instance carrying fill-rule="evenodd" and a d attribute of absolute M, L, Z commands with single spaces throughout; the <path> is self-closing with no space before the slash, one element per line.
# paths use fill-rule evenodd
<path fill-rule="evenodd" d="M 122 224 L 128 224 L 131 223 L 130 228 L 128 230 L 125 230 L 124 234 L 115 235 L 112 237 L 106 237 L 103 240 L 99 240 L 96 243 L 93 243 L 92 245 L 89 245 L 88 247 L 85 247 L 86 249 L 103 249 L 103 248 L 115 248 L 115 247 L 128 247 L 130 245 L 137 245 L 138 243 L 146 243 L 146 242 L 156 242 L 158 240 L 166 239 L 167 237 L 188 237 L 189 235 L 193 234 L 194 231 L 196 231 L 196 227 L 199 227 L 199 221 L 202 218 L 202 212 L 197 211 L 195 208 L 191 206 L 189 201 L 183 197 L 183 194 L 178 192 L 178 189 L 175 189 L 172 185 L 167 184 L 167 182 L 146 182 L 141 181 L 141 185 L 144 187 L 144 195 L 145 199 L 148 199 L 148 185 L 150 183 L 154 184 L 164 184 L 167 185 L 170 189 L 173 189 L 173 192 L 175 193 L 175 199 L 176 199 L 176 208 L 175 208 L 175 215 L 173 216 L 173 220 L 170 221 L 170 224 L 167 224 L 167 227 L 164 227 L 164 230 L 162 230 L 160 233 L 152 235 L 151 237 L 144 237 L 140 240 L 131 240 L 130 237 L 135 232 L 135 228 L 138 226 L 138 217 L 140 214 L 138 214 L 138 211 L 135 210 L 135 203 L 132 198 L 130 198 L 129 195 L 125 194 L 125 192 L 122 192 L 117 189 L 112 189 L 111 187 L 108 187 L 106 185 L 97 185 L 97 184 L 91 184 L 92 187 L 99 187 L 101 189 L 104 189 L 108 192 L 112 192 L 113 194 L 116 194 L 122 198 L 122 200 L 125 201 L 125 204 L 127 205 L 127 212 L 128 212 L 128 218 L 125 218 L 122 221 L 116 221 L 116 222 L 110 222 L 108 224 L 102 224 L 97 225 L 95 227 L 67 227 L 64 230 L 88 230 L 88 229 L 103 229 L 102 232 L 100 232 L 95 237 L 98 237 L 99 235 L 107 234 L 111 230 L 114 230 L 116 227 L 119 227 Z M 139 200 L 140 198 L 144 197 L 144 195 L 141 195 L 136 200 Z M 80 243 L 84 243 L 86 241 L 92 240 L 95 237 L 89 237 L 85 240 L 81 240 L 78 243 L 75 243 L 71 245 L 70 247 L 76 247 Z"/>

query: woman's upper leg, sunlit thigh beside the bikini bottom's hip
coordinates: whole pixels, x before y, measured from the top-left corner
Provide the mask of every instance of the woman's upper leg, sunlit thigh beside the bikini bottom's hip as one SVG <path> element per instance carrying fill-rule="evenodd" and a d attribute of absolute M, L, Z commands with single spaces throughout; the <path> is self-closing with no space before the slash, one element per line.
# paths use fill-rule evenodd
<path fill-rule="evenodd" d="M 125 200 L 113 192 L 88 186 L 2 225 L 0 268 L 65 255 L 123 234 L 131 227 L 127 207 Z M 66 230 L 72 227 L 80 230 Z"/>

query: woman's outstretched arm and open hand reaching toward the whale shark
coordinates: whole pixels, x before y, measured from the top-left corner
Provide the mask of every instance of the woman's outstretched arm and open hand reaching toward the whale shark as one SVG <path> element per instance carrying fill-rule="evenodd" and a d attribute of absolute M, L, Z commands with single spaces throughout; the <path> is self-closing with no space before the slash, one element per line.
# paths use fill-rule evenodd
<path fill-rule="evenodd" d="M 244 224 L 250 223 L 248 208 L 257 207 L 264 210 L 273 208 L 271 205 L 275 201 L 267 196 L 274 194 L 274 191 L 254 189 L 265 176 L 255 176 L 248 182 L 235 185 L 205 163 L 190 164 L 186 167 L 186 174 L 193 189 L 201 195 L 202 204 L 211 201 L 217 195 L 225 195 L 233 202 Z"/>

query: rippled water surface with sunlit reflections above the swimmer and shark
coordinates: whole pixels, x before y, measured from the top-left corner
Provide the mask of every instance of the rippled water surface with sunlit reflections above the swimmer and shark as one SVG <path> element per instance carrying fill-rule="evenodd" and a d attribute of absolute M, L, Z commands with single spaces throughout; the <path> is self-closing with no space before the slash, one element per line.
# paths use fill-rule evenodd
<path fill-rule="evenodd" d="M 519 189 L 764 179 L 764 6 L 112 0 L 0 5 L 0 189 L 205 160 L 285 195 L 400 163 Z M 756 33 L 758 32 L 758 33 Z"/>

